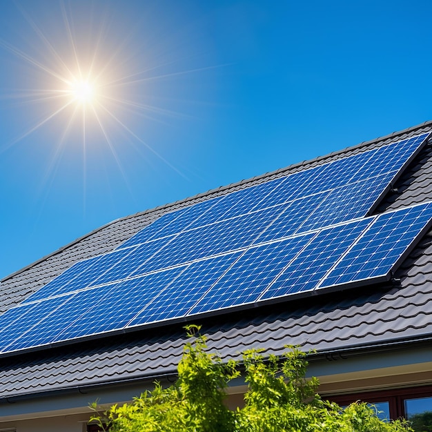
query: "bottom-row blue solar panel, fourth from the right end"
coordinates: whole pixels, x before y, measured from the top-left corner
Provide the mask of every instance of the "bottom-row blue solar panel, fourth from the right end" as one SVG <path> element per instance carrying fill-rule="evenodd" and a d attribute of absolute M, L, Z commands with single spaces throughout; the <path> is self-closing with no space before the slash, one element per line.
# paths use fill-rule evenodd
<path fill-rule="evenodd" d="M 144 306 L 128 327 L 183 317 L 239 255 L 241 252 L 193 262 L 175 279 L 174 284 Z"/>

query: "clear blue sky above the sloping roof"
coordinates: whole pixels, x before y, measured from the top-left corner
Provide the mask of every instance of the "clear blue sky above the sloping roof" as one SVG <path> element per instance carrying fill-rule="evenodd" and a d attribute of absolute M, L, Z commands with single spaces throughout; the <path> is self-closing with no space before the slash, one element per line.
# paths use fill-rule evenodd
<path fill-rule="evenodd" d="M 0 278 L 113 219 L 431 119 L 431 9 L 1 1 Z M 90 69 L 84 107 L 68 82 Z"/>

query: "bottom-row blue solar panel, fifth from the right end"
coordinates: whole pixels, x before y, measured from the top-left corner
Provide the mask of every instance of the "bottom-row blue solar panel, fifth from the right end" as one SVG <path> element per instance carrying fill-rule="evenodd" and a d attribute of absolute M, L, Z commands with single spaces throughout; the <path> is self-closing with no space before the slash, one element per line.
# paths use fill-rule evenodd
<path fill-rule="evenodd" d="M 56 340 L 69 340 L 124 328 L 146 304 L 172 284 L 185 268 L 170 268 L 115 284 L 108 296 L 88 308 L 87 313 L 70 324 Z"/>

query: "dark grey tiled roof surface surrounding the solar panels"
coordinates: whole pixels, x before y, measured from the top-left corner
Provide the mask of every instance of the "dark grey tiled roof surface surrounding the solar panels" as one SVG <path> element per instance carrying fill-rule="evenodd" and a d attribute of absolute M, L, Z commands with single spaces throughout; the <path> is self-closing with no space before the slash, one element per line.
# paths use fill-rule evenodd
<path fill-rule="evenodd" d="M 18 304 L 74 262 L 112 251 L 164 213 L 192 203 L 230 193 L 252 184 L 333 159 L 360 153 L 392 141 L 432 130 L 432 122 L 362 143 L 326 157 L 305 161 L 274 173 L 210 190 L 181 202 L 111 222 L 59 251 L 6 277 L 0 285 L 0 311 Z M 432 147 L 426 146 L 397 180 L 375 213 L 432 200 Z M 209 317 L 203 324 L 211 349 L 224 357 L 236 357 L 251 346 L 282 353 L 286 344 L 300 344 L 321 353 L 355 346 L 379 346 L 389 342 L 419 340 L 432 335 L 431 298 L 432 236 L 425 235 L 400 266 L 398 282 L 337 295 L 322 295 L 254 308 L 223 317 Z M 153 328 L 81 342 L 46 351 L 0 359 L 0 398 L 72 389 L 175 373 L 186 341 L 181 324 Z"/>

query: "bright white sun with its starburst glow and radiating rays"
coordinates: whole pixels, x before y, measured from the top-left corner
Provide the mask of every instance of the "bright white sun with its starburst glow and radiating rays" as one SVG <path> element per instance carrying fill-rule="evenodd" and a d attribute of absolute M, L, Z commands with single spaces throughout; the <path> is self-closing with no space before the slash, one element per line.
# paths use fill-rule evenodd
<path fill-rule="evenodd" d="M 35 21 L 18 6 L 32 30 L 32 39 L 17 46 L 0 39 L 0 49 L 10 52 L 14 62 L 23 61 L 14 78 L 18 85 L 10 97 L 22 101 L 28 116 L 28 126 L 19 129 L 3 150 L 40 130 L 50 134 L 49 142 L 57 141 L 50 167 L 59 166 L 63 155 L 75 157 L 81 147 L 84 173 L 90 171 L 88 155 L 100 151 L 110 157 L 107 164 L 117 164 L 125 182 L 122 159 L 130 160 L 132 154 L 142 157 L 146 164 L 153 164 L 155 157 L 188 178 L 141 133 L 150 130 L 152 124 L 166 123 L 168 118 L 184 117 L 177 108 L 183 86 L 174 85 L 175 81 L 206 68 L 179 68 L 190 53 L 183 57 L 180 50 L 173 55 L 165 43 L 157 48 L 149 42 L 135 46 L 135 30 L 130 30 L 129 21 L 120 17 L 111 21 L 108 12 L 96 17 L 83 12 L 88 6 L 81 9 L 66 0 L 58 4 L 60 19 L 50 20 L 49 25 Z M 162 108 L 167 101 L 175 109 Z M 51 169 L 54 172 L 57 168 Z"/>

